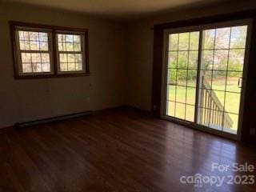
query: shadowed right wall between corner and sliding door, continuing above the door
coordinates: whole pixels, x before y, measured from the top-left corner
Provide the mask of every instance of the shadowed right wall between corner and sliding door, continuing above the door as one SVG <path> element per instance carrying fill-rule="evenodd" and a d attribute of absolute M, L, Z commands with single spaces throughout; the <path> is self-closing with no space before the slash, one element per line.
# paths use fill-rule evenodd
<path fill-rule="evenodd" d="M 126 103 L 142 110 L 150 110 L 151 108 L 153 30 L 150 30 L 150 28 L 154 24 L 200 18 L 255 7 L 256 1 L 232 1 L 222 4 L 222 6 L 199 7 L 193 10 L 178 11 L 159 17 L 130 22 L 126 31 L 129 42 L 127 45 L 129 61 L 126 65 Z"/>

